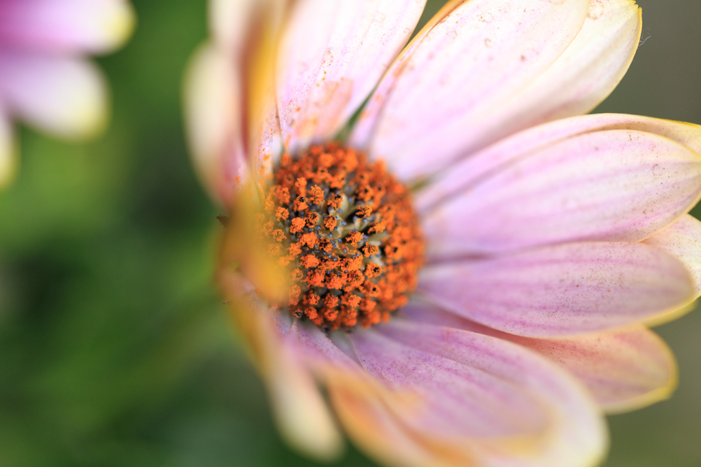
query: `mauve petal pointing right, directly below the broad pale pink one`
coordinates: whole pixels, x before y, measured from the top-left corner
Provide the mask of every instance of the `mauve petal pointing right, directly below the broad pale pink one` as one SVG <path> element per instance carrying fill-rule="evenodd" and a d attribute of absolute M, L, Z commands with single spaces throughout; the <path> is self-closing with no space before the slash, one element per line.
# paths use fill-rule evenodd
<path fill-rule="evenodd" d="M 678 259 L 640 243 L 566 243 L 423 269 L 423 295 L 526 337 L 562 337 L 661 316 L 690 301 Z"/>

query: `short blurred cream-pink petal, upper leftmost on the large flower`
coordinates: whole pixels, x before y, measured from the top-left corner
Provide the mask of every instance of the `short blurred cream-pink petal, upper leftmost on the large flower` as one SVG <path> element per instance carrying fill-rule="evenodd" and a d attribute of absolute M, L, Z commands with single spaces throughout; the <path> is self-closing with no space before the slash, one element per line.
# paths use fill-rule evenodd
<path fill-rule="evenodd" d="M 186 135 L 203 184 L 224 205 L 231 203 L 248 177 L 240 108 L 234 61 L 216 46 L 201 46 L 184 81 Z"/>

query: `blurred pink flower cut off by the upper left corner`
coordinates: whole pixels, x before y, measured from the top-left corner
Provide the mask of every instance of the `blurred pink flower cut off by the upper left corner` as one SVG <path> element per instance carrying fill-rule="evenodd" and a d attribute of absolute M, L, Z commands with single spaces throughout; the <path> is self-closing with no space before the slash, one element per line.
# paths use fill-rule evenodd
<path fill-rule="evenodd" d="M 0 2 L 0 187 L 16 165 L 11 119 L 81 139 L 107 121 L 107 84 L 83 57 L 120 47 L 134 13 L 126 0 Z"/>

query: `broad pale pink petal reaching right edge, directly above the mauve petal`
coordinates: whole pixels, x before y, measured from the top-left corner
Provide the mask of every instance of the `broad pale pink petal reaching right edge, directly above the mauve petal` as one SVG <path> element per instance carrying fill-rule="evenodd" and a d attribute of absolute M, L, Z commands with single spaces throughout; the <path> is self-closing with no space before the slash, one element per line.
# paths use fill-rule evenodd
<path fill-rule="evenodd" d="M 483 169 L 475 170 L 481 179 L 466 182 L 461 195 L 423 219 L 431 255 L 641 241 L 688 212 L 701 194 L 701 157 L 637 130 L 576 135 Z"/>

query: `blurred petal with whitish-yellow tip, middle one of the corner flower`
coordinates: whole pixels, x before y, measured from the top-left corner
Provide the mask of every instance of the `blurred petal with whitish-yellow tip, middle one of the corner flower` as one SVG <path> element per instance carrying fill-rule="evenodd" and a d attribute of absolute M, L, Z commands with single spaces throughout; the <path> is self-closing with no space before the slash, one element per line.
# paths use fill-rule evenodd
<path fill-rule="evenodd" d="M 0 95 L 22 119 L 49 133 L 90 137 L 107 123 L 107 83 L 77 58 L 0 53 Z"/>

